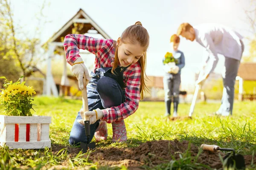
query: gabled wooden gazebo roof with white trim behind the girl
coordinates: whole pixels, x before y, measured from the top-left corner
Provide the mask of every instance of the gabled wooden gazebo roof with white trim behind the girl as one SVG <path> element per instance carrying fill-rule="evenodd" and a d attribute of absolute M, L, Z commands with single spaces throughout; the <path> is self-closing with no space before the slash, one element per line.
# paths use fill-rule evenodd
<path fill-rule="evenodd" d="M 82 24 L 79 26 L 80 34 L 85 34 L 88 30 L 96 30 L 102 37 L 110 39 L 110 36 L 80 8 L 79 11 L 50 38 L 50 42 L 62 42 L 61 37 L 72 34 L 72 29 L 75 28 L 74 23 Z"/>

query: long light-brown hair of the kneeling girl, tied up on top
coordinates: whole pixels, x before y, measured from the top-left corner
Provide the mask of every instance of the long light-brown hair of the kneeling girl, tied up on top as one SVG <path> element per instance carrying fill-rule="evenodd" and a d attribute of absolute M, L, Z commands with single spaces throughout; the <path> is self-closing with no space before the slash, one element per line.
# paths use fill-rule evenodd
<path fill-rule="evenodd" d="M 136 44 L 139 43 L 143 48 L 144 48 L 144 54 L 143 57 L 140 57 L 139 62 L 140 62 L 140 67 L 141 67 L 141 78 L 140 78 L 140 97 L 143 99 L 144 97 L 144 91 L 148 91 L 148 88 L 145 85 L 145 70 L 146 70 L 146 51 L 148 49 L 149 45 L 149 35 L 148 31 L 142 26 L 140 21 L 137 21 L 134 25 L 129 26 L 128 28 L 123 31 L 120 40 L 123 43 L 132 43 Z M 112 74 L 114 74 L 114 70 L 118 66 L 118 46 L 116 47 L 116 52 L 115 52 L 115 61 L 113 64 L 113 68 L 111 70 Z M 147 77 L 148 78 L 148 77 Z"/>

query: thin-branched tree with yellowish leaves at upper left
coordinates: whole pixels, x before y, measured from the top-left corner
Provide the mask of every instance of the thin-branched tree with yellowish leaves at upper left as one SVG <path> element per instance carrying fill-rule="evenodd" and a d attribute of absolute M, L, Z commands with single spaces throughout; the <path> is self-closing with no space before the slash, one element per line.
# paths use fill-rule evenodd
<path fill-rule="evenodd" d="M 41 11 L 44 9 L 44 5 Z M 40 22 L 38 18 L 38 22 Z M 20 26 L 15 26 L 13 20 L 13 13 L 11 9 L 10 0 L 0 0 L 0 44 L 3 45 L 0 48 L 0 59 L 9 59 L 9 61 L 19 68 L 21 71 L 20 76 L 29 77 L 35 71 L 39 71 L 37 63 L 42 60 L 42 57 L 38 57 L 40 54 L 40 38 L 39 29 L 35 29 L 35 37 L 26 37 L 24 32 L 18 32 L 22 30 Z"/>

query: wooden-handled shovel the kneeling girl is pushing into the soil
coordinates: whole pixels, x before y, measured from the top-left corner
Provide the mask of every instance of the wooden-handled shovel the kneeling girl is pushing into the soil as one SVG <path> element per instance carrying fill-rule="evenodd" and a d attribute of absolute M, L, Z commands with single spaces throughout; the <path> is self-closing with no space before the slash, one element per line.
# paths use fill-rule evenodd
<path fill-rule="evenodd" d="M 85 75 L 83 77 L 83 84 L 84 84 L 84 89 L 82 90 L 82 101 L 83 101 L 83 111 L 84 113 L 89 111 L 88 109 L 88 99 L 87 99 L 87 90 L 86 90 L 86 79 Z M 80 147 L 82 148 L 83 153 L 87 153 L 88 149 L 94 149 L 96 147 L 95 142 L 90 142 L 89 143 L 89 137 L 90 137 L 90 116 L 85 116 L 84 115 L 84 129 L 85 129 L 85 135 L 87 136 L 87 143 L 81 142 Z"/>

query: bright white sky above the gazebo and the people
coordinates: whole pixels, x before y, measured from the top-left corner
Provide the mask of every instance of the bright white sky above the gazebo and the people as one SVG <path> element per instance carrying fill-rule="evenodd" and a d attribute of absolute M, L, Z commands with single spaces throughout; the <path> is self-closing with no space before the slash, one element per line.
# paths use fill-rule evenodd
<path fill-rule="evenodd" d="M 39 25 L 35 19 L 44 0 L 11 0 L 14 21 L 23 26 L 27 34 L 40 27 L 41 40 L 46 42 L 80 8 L 82 8 L 112 39 L 116 40 L 130 25 L 140 21 L 148 30 L 150 44 L 147 51 L 149 76 L 163 76 L 162 59 L 172 51 L 169 40 L 183 22 L 192 26 L 201 23 L 218 23 L 233 28 L 244 37 L 251 37 L 244 10 L 250 8 L 250 0 L 45 0 L 44 20 Z M 249 41 L 244 38 L 244 55 L 249 54 Z M 203 57 L 207 51 L 197 42 L 180 39 L 179 50 L 185 55 L 186 65 L 181 72 L 184 85 L 195 82 Z M 221 73 L 224 57 L 220 56 L 215 69 Z"/>

